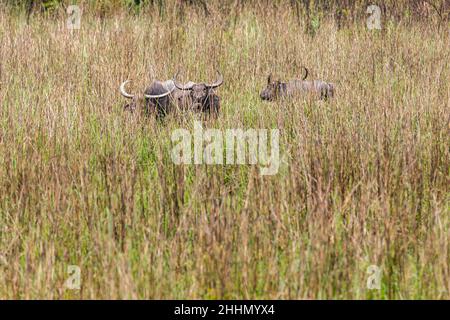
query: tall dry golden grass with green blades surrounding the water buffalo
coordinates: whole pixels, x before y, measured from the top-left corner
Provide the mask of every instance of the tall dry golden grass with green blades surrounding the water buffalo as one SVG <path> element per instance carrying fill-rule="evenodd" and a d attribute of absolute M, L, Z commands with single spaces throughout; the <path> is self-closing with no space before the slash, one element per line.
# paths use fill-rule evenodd
<path fill-rule="evenodd" d="M 449 299 L 448 27 L 323 18 L 312 36 L 287 9 L 211 10 L 85 12 L 69 31 L 1 8 L 0 297 Z M 269 72 L 303 64 L 335 99 L 260 101 Z M 127 78 L 137 92 L 215 67 L 205 126 L 279 128 L 278 175 L 176 166 L 171 132 L 193 118 L 122 110 Z"/>

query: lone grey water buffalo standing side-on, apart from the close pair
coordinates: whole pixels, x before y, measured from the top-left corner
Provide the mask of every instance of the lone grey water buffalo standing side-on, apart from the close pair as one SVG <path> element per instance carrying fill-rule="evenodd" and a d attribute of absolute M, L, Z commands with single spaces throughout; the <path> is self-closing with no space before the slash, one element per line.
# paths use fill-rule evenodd
<path fill-rule="evenodd" d="M 289 82 L 273 80 L 272 75 L 267 79 L 267 86 L 261 92 L 262 100 L 274 101 L 282 97 L 292 97 L 295 95 L 312 94 L 320 99 L 328 99 L 334 96 L 334 84 L 322 80 L 307 81 L 308 69 L 303 67 L 305 75 L 303 78 L 294 79 Z"/>

